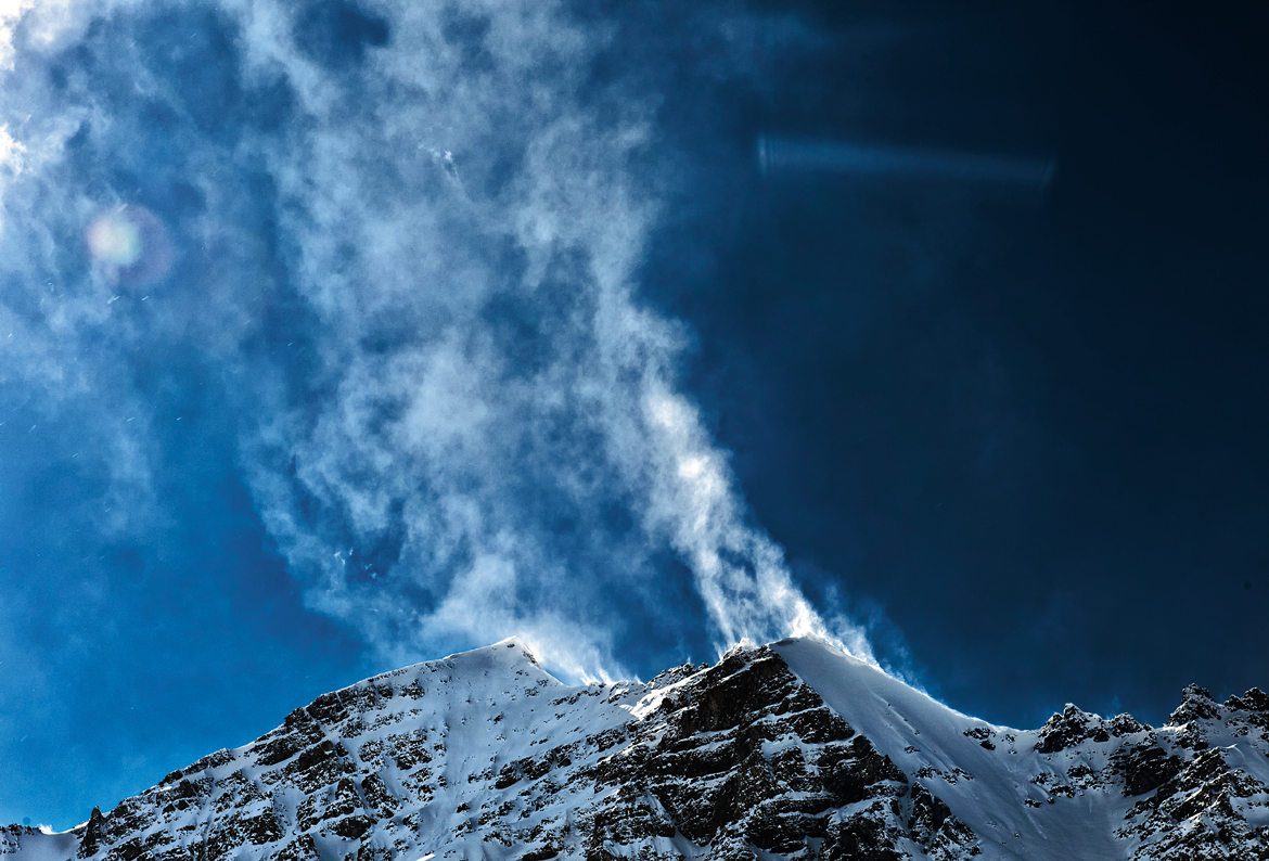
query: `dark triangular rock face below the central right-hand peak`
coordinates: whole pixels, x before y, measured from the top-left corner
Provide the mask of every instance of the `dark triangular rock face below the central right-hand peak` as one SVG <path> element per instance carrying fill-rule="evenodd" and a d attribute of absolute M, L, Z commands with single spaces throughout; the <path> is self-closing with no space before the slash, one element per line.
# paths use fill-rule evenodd
<path fill-rule="evenodd" d="M 617 789 L 591 842 L 637 846 L 678 831 L 717 858 L 751 858 L 755 847 L 810 858 L 816 842 L 825 857 L 863 857 L 860 847 L 911 857 L 901 848 L 911 829 L 891 805 L 910 793 L 907 776 L 770 649 L 728 654 L 627 733 L 618 754 L 581 772 Z M 881 803 L 840 817 L 868 799 Z"/>

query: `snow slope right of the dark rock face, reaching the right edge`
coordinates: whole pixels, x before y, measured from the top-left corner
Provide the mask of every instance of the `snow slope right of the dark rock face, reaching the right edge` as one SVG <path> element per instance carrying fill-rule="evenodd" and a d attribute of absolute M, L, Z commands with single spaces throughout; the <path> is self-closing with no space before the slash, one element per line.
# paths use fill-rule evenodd
<path fill-rule="evenodd" d="M 1098 861 L 1134 853 L 1148 857 L 1152 848 L 1167 850 L 1164 841 L 1151 839 L 1162 831 L 1157 823 L 1133 822 L 1151 812 L 1138 796 L 1166 782 L 1146 786 L 1138 780 L 1129 785 L 1131 777 L 1145 776 L 1133 753 L 1140 760 L 1151 751 L 1165 756 L 1145 756 L 1147 765 L 1166 762 L 1178 752 L 1211 751 L 1212 776 L 1231 775 L 1233 782 L 1241 777 L 1239 789 L 1247 790 L 1241 798 L 1237 790 L 1227 794 L 1227 809 L 1217 809 L 1214 815 L 1198 804 L 1185 818 L 1189 820 L 1167 823 L 1179 825 L 1189 838 L 1174 847 L 1179 857 L 1242 857 L 1221 837 L 1231 838 L 1233 832 L 1246 837 L 1251 829 L 1239 828 L 1239 819 L 1253 828 L 1269 824 L 1269 735 L 1264 732 L 1269 729 L 1264 710 L 1269 697 L 1263 694 L 1259 699 L 1249 694 L 1255 704 L 1231 697 L 1227 705 L 1236 708 L 1221 720 L 1206 691 L 1187 689 L 1185 702 L 1170 725 L 1159 730 L 1129 715 L 1103 720 L 1075 706 L 1039 730 L 1016 730 L 963 715 L 822 643 L 784 640 L 773 648 L 878 751 L 943 799 L 982 838 L 985 858 Z M 1181 758 L 1176 758 L 1171 777 L 1183 771 Z M 1200 781 L 1190 793 L 1202 798 L 1203 789 L 1211 790 L 1208 782 Z M 1220 793 L 1214 798 L 1220 800 Z M 1237 812 L 1231 798 L 1239 803 Z M 1269 857 L 1266 837 L 1261 829 L 1253 841 L 1261 850 L 1247 857 Z M 1213 853 L 1202 855 L 1204 851 Z"/>

